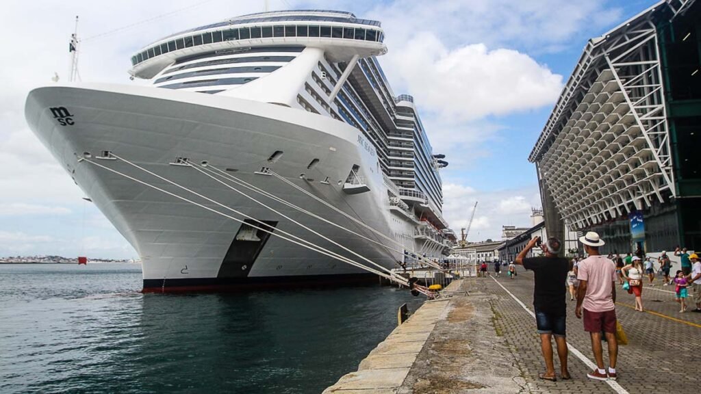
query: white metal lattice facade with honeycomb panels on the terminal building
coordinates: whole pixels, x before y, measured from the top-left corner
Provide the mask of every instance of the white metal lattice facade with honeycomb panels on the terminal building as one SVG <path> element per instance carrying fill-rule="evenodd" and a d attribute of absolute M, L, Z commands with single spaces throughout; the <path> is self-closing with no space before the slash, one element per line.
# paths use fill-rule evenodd
<path fill-rule="evenodd" d="M 573 229 L 676 196 L 655 18 L 692 2 L 660 1 L 587 43 L 529 156 Z"/>

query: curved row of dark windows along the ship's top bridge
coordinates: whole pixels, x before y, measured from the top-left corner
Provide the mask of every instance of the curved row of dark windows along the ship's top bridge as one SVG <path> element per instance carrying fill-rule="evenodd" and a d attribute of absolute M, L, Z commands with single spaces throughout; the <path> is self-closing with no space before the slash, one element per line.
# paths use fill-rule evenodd
<path fill-rule="evenodd" d="M 161 45 L 144 50 L 138 55 L 132 56 L 132 65 L 139 64 L 151 57 L 162 55 L 191 46 L 199 46 L 206 43 L 216 43 L 231 40 L 260 39 L 271 37 L 323 37 L 333 39 L 351 39 L 362 41 L 382 42 L 384 35 L 372 29 L 355 29 L 353 27 L 331 27 L 331 26 L 264 26 L 264 27 L 242 27 L 240 29 L 229 29 L 218 32 L 207 32 L 196 36 L 186 36 L 181 39 L 168 41 Z"/>

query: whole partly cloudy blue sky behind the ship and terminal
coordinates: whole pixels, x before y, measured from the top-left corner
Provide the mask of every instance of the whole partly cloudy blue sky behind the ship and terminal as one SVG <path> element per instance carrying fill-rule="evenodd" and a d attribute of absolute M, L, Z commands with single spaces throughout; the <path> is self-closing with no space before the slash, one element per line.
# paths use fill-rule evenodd
<path fill-rule="evenodd" d="M 501 239 L 540 208 L 528 156 L 588 39 L 651 0 L 269 0 L 271 10 L 336 9 L 379 20 L 379 61 L 395 94 L 414 96 L 441 170 L 443 214 L 468 240 Z M 80 16 L 82 81 L 130 81 L 130 57 L 168 34 L 264 11 L 265 1 L 4 2 L 0 36 L 0 257 L 61 254 L 128 259 L 135 250 L 29 130 L 27 93 L 67 81 Z"/>

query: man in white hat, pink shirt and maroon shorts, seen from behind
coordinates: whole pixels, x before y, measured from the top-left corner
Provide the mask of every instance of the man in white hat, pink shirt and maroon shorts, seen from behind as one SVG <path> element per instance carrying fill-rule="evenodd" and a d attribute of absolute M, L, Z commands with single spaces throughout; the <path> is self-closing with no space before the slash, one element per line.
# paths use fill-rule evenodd
<path fill-rule="evenodd" d="M 618 358 L 618 342 L 615 339 L 615 264 L 599 254 L 599 247 L 604 245 L 599 234 L 589 231 L 579 241 L 584 244 L 589 257 L 580 261 L 578 266 L 579 289 L 575 315 L 579 319 L 584 315 L 584 330 L 591 336 L 592 351 L 597 362 L 597 368 L 587 376 L 590 379 L 615 380 Z M 604 332 L 608 342 L 608 371 L 604 369 L 601 332 Z"/>

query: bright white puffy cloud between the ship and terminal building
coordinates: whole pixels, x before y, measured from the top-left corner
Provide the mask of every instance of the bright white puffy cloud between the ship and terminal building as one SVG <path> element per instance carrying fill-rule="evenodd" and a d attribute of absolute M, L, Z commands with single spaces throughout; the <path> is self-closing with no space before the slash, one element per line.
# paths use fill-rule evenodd
<path fill-rule="evenodd" d="M 386 64 L 422 109 L 453 121 L 543 107 L 562 90 L 561 75 L 524 53 L 482 43 L 450 50 L 430 32 L 407 41 Z"/>

